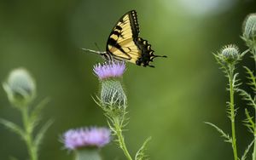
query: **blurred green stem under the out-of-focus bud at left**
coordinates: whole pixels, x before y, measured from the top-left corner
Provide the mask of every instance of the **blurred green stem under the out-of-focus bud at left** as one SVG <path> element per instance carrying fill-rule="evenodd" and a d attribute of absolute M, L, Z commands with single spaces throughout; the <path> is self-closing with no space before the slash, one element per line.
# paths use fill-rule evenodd
<path fill-rule="evenodd" d="M 38 153 L 37 153 L 37 147 L 34 146 L 32 141 L 32 128 L 29 123 L 29 116 L 28 116 L 28 107 L 24 106 L 21 109 L 22 111 L 22 120 L 25 130 L 25 141 L 26 141 L 26 147 L 28 150 L 28 154 L 30 156 L 30 160 L 38 160 Z"/>

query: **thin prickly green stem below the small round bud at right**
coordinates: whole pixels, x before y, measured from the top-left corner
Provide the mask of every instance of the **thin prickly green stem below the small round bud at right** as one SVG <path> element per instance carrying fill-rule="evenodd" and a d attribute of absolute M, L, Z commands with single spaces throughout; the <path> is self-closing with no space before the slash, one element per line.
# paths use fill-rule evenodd
<path fill-rule="evenodd" d="M 230 75 L 229 75 L 229 82 L 230 82 L 230 121 L 231 121 L 231 128 L 232 128 L 232 148 L 234 159 L 237 160 L 237 151 L 236 151 L 236 126 L 235 126 L 235 105 L 234 105 L 234 86 L 233 86 L 233 67 L 230 67 Z"/>

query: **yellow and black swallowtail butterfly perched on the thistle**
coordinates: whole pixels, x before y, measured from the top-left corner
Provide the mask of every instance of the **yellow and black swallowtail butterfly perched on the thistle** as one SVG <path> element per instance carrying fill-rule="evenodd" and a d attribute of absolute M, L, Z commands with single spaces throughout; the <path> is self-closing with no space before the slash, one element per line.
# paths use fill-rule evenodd
<path fill-rule="evenodd" d="M 149 62 L 152 62 L 155 57 L 166 57 L 165 55 L 155 55 L 148 41 L 138 37 L 138 34 L 137 12 L 131 10 L 124 14 L 113 27 L 108 37 L 105 52 L 84 50 L 100 54 L 106 60 L 124 60 L 138 66 L 151 66 Z"/>

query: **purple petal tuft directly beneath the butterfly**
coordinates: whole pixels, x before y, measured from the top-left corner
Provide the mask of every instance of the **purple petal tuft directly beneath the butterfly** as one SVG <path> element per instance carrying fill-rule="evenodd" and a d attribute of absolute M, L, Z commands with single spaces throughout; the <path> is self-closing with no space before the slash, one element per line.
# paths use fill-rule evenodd
<path fill-rule="evenodd" d="M 109 61 L 94 66 L 93 71 L 102 80 L 108 77 L 122 77 L 125 72 L 125 62 Z"/>

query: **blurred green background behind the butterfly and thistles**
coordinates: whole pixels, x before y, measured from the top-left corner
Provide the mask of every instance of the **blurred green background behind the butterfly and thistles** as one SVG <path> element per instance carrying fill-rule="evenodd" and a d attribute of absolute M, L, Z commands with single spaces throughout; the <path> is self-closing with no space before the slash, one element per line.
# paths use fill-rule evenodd
<path fill-rule="evenodd" d="M 102 110 L 91 95 L 99 83 L 92 72 L 95 54 L 80 48 L 104 50 L 108 35 L 119 18 L 131 9 L 138 14 L 141 37 L 152 44 L 156 68 L 128 64 L 124 83 L 129 100 L 130 123 L 125 140 L 132 155 L 143 140 L 152 136 L 150 159 L 232 159 L 230 144 L 203 122 L 230 132 L 226 117 L 226 79 L 212 52 L 224 44 L 241 41 L 241 25 L 255 12 L 253 0 L 62 0 L 0 1 L 0 80 L 24 66 L 37 80 L 37 101 L 51 98 L 44 121 L 54 118 L 41 146 L 40 159 L 73 159 L 63 150 L 61 134 L 82 126 L 106 126 Z M 253 67 L 246 57 L 243 65 Z M 242 70 L 241 70 L 242 71 Z M 241 74 L 242 76 L 243 74 Z M 240 102 L 238 102 L 240 103 Z M 0 117 L 20 123 L 0 89 Z M 239 106 L 239 105 L 238 105 Z M 237 114 L 239 155 L 252 140 L 244 119 L 244 106 Z M 26 159 L 23 142 L 0 126 L 0 159 Z M 112 143 L 102 149 L 104 159 L 125 159 Z"/>

